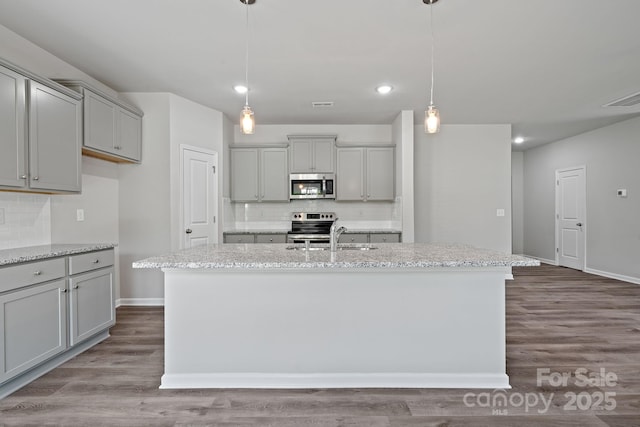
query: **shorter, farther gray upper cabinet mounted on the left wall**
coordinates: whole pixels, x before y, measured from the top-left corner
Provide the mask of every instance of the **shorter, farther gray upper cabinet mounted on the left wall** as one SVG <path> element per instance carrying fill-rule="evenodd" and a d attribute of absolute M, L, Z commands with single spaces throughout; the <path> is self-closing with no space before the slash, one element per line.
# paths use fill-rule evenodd
<path fill-rule="evenodd" d="M 82 81 L 59 80 L 83 95 L 82 153 L 117 163 L 140 163 L 142 111 Z"/>

